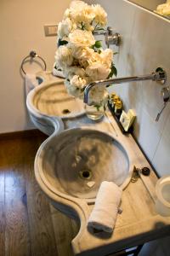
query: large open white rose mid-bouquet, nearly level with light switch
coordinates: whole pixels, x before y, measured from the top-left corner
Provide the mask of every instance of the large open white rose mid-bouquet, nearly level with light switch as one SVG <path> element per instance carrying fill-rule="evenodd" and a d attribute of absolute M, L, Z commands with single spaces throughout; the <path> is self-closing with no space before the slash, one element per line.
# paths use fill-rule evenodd
<path fill-rule="evenodd" d="M 69 34 L 69 40 L 71 44 L 75 44 L 79 47 L 90 47 L 95 44 L 95 39 L 92 32 L 79 29 Z"/>

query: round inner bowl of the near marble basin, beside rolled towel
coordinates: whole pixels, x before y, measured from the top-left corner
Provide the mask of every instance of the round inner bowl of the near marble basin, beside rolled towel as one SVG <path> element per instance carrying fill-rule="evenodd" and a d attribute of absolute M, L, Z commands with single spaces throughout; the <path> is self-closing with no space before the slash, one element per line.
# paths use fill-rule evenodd
<path fill-rule="evenodd" d="M 95 201 L 100 183 L 122 189 L 130 180 L 130 160 L 114 137 L 90 128 L 74 128 L 51 136 L 37 152 L 38 178 L 61 197 Z"/>

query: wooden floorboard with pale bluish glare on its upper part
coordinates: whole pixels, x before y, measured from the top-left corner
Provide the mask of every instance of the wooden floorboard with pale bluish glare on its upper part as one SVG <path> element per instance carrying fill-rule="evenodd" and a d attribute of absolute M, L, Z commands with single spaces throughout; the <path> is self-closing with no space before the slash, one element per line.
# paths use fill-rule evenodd
<path fill-rule="evenodd" d="M 22 166 L 5 171 L 5 255 L 29 256 L 31 247 Z"/>

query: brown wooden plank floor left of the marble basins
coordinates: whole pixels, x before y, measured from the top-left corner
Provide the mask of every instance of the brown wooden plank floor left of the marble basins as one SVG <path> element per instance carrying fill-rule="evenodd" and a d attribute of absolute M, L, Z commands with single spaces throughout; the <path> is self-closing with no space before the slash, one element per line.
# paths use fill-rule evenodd
<path fill-rule="evenodd" d="M 0 137 L 0 256 L 70 256 L 79 225 L 52 207 L 34 177 L 45 136 Z"/>

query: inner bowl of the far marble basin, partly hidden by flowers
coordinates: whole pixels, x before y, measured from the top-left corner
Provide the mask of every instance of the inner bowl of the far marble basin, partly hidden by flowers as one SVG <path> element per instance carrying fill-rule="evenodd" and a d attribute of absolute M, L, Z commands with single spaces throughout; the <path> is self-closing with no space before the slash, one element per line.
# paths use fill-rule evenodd
<path fill-rule="evenodd" d="M 43 82 L 31 90 L 26 103 L 29 111 L 48 117 L 75 118 L 85 113 L 84 103 L 67 93 L 63 79 Z"/>

